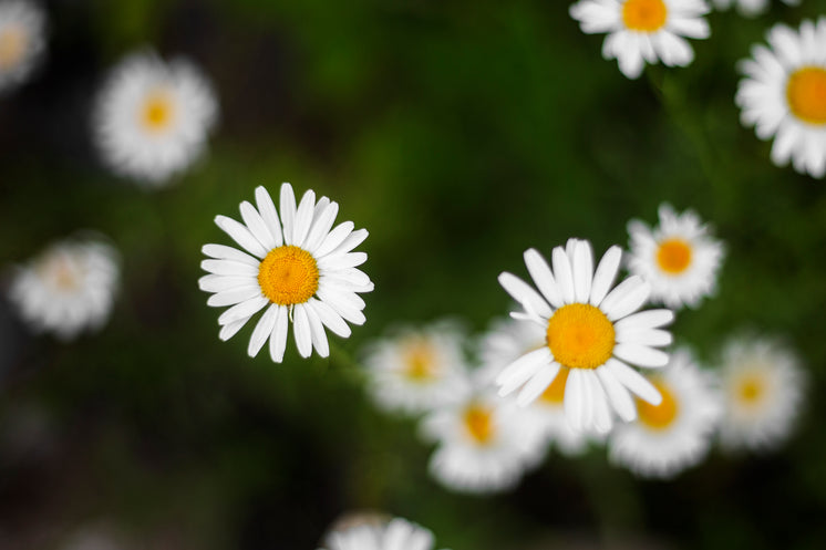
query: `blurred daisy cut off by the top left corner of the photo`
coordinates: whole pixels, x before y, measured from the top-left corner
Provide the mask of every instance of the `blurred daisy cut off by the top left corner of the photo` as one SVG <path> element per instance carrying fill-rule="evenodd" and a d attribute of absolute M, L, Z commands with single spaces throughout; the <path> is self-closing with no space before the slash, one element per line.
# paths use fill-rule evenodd
<path fill-rule="evenodd" d="M 21 84 L 45 49 L 45 13 L 34 2 L 0 2 L 0 92 Z"/>

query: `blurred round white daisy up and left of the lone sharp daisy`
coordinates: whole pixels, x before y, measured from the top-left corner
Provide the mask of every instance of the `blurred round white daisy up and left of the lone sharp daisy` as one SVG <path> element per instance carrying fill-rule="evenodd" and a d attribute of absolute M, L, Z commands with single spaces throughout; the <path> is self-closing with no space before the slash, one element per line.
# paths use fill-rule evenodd
<path fill-rule="evenodd" d="M 193 63 L 135 53 L 97 96 L 94 137 L 112 170 L 159 187 L 202 155 L 217 115 L 213 86 Z"/>

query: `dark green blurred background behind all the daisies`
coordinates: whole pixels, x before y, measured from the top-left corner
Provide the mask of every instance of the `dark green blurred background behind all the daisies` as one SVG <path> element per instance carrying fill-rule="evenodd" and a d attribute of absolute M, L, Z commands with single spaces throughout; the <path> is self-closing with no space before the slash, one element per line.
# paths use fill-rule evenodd
<path fill-rule="evenodd" d="M 48 59 L 0 98 L 0 261 L 96 229 L 124 273 L 110 323 L 69 344 L 0 301 L 0 548 L 104 526 L 126 548 L 312 550 L 352 509 L 453 550 L 820 548 L 826 193 L 771 164 L 733 95 L 750 44 L 826 1 L 773 3 L 712 14 L 690 68 L 628 81 L 556 0 L 44 2 Z M 147 45 L 195 60 L 221 106 L 209 154 L 159 191 L 107 174 L 89 132 L 106 71 Z M 329 361 L 291 340 L 282 365 L 247 357 L 251 324 L 221 343 L 197 288 L 202 245 L 229 242 L 215 215 L 281 181 L 370 230 L 368 322 Z M 810 378 L 789 444 L 715 450 L 673 482 L 638 481 L 600 448 L 551 454 L 500 496 L 432 481 L 414 422 L 376 412 L 348 356 L 399 322 L 481 331 L 526 248 L 624 246 L 627 221 L 654 222 L 663 200 L 727 247 L 717 297 L 679 314 L 678 342 L 713 364 L 741 328 L 785 335 Z"/>

